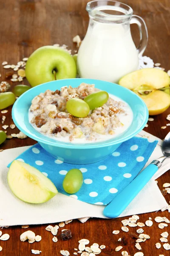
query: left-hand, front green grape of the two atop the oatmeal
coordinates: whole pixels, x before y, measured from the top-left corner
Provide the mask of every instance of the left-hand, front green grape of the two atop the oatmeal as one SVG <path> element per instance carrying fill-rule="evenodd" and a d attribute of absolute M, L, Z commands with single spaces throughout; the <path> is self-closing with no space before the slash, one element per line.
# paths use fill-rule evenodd
<path fill-rule="evenodd" d="M 66 108 L 70 114 L 76 117 L 85 117 L 90 111 L 88 104 L 78 98 L 69 99 Z"/>

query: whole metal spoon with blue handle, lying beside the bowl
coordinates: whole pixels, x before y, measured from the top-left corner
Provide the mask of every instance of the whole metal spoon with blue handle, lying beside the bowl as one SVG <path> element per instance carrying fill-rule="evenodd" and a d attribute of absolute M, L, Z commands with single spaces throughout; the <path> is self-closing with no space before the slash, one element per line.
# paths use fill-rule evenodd
<path fill-rule="evenodd" d="M 129 185 L 122 190 L 116 198 L 114 198 L 110 204 L 108 204 L 103 214 L 108 218 L 118 217 L 125 208 L 130 204 L 133 198 L 143 189 L 146 183 L 153 177 L 153 175 L 161 167 L 163 161 L 170 157 L 170 132 L 164 139 L 162 144 L 162 152 L 164 156 L 159 157 L 159 159 L 152 161 L 149 166 L 147 166 L 139 175 L 136 176 L 134 180 L 130 182 Z"/>

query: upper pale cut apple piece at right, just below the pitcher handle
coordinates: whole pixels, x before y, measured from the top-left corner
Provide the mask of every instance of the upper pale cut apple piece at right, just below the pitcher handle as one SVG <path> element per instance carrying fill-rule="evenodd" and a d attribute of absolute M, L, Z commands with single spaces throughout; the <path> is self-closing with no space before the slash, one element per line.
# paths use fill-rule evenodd
<path fill-rule="evenodd" d="M 156 68 L 144 68 L 123 76 L 119 80 L 119 84 L 130 90 L 134 90 L 141 85 L 147 85 L 159 90 L 164 87 L 169 87 L 170 76 L 168 76 L 166 72 Z M 166 93 L 170 94 L 170 90 L 167 89 Z"/>

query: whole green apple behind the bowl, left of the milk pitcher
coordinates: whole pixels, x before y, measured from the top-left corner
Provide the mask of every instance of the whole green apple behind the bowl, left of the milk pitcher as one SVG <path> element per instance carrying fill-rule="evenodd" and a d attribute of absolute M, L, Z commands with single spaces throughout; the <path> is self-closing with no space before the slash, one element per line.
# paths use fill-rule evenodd
<path fill-rule="evenodd" d="M 75 78 L 76 74 L 74 58 L 55 46 L 38 48 L 26 63 L 26 78 L 32 87 L 58 79 Z"/>

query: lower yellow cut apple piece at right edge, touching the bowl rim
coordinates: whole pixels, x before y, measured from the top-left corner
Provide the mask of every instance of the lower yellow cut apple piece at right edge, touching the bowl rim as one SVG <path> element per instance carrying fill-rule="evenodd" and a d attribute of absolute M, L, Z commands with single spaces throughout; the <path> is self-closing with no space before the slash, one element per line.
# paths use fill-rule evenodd
<path fill-rule="evenodd" d="M 163 113 L 170 106 L 170 95 L 160 90 L 155 90 L 148 95 L 140 96 L 147 105 L 150 115 Z"/>

